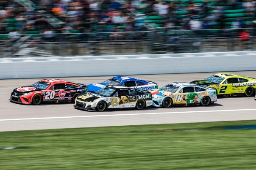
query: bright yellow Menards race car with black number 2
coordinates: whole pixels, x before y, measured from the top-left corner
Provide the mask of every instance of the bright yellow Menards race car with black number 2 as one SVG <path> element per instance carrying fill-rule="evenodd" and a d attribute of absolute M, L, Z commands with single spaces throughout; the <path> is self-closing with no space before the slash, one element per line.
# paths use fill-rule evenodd
<path fill-rule="evenodd" d="M 256 78 L 239 76 L 231 73 L 214 74 L 204 80 L 191 83 L 208 86 L 216 90 L 218 96 L 253 96 L 256 89 Z"/>

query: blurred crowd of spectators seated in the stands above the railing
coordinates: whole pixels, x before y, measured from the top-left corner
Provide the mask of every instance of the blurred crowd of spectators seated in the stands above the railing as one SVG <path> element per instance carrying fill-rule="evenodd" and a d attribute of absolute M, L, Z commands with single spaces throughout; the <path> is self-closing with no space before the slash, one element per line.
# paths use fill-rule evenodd
<path fill-rule="evenodd" d="M 28 0 L 33 9 L 14 0 L 0 0 L 0 33 L 131 32 L 152 27 L 148 16 L 162 16 L 163 27 L 198 30 L 254 27 L 252 0 Z M 225 10 L 244 9 L 243 17 L 228 20 Z M 42 12 L 43 11 L 43 12 Z M 182 13 L 182 14 L 179 14 Z M 45 14 L 58 23 L 54 27 Z M 150 25 L 151 24 L 151 25 Z M 217 25 L 217 27 L 215 27 Z M 154 25 L 153 25 L 154 27 Z M 33 32 L 34 31 L 34 32 Z"/>

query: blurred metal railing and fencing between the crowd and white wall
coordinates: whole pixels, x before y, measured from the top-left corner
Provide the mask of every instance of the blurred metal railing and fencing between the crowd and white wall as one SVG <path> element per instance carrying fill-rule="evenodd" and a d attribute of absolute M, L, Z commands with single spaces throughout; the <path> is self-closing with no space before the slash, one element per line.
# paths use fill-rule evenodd
<path fill-rule="evenodd" d="M 241 40 L 241 32 L 248 40 Z M 144 32 L 92 32 L 0 35 L 7 56 L 165 54 L 256 49 L 256 29 L 181 30 L 159 27 Z"/>

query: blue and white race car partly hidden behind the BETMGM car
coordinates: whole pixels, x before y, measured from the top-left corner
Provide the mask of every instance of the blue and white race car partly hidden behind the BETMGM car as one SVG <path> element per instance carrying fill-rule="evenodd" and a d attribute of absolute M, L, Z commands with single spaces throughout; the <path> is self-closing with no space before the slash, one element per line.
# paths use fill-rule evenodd
<path fill-rule="evenodd" d="M 152 81 L 138 80 L 131 77 L 113 77 L 102 83 L 94 83 L 88 85 L 89 92 L 95 92 L 106 86 L 125 86 L 139 90 L 152 90 L 157 89 L 157 84 Z"/>

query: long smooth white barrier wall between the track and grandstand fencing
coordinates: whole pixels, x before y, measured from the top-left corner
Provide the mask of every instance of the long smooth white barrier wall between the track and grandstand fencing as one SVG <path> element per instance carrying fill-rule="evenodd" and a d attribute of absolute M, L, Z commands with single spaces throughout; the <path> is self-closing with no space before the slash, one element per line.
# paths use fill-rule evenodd
<path fill-rule="evenodd" d="M 256 70 L 256 51 L 0 59 L 0 78 L 50 78 Z"/>

